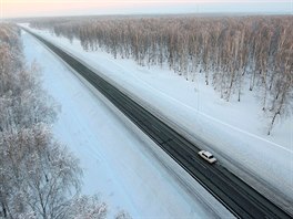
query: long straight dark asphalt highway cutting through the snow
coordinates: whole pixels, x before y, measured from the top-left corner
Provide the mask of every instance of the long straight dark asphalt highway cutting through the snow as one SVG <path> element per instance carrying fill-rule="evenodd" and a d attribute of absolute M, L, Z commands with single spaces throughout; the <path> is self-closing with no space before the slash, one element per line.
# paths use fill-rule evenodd
<path fill-rule="evenodd" d="M 26 29 L 24 29 L 26 30 Z M 99 73 L 53 45 L 41 36 L 26 30 L 59 55 L 68 65 L 83 76 L 112 104 L 129 117 L 141 131 L 181 165 L 198 182 L 209 190 L 238 218 L 292 218 L 252 187 L 221 165 L 210 165 L 198 156 L 200 147 L 180 135 L 175 129 L 152 115 L 140 104 L 111 85 Z"/>

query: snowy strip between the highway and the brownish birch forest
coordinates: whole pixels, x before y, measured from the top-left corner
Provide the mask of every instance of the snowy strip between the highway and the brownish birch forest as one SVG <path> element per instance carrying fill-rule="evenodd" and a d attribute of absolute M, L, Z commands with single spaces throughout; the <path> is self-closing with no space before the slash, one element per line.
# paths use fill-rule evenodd
<path fill-rule="evenodd" d="M 83 51 L 78 40 L 70 43 L 48 31 L 33 31 L 84 60 L 170 125 L 180 127 L 190 139 L 213 152 L 222 165 L 293 212 L 292 116 L 276 124 L 267 136 L 267 121 L 250 92 L 244 91 L 241 103 L 228 103 L 204 85 L 203 77 L 186 82 L 168 67 L 139 66 L 132 60 L 115 60 L 102 51 Z M 282 202 L 276 194 L 287 201 Z"/>

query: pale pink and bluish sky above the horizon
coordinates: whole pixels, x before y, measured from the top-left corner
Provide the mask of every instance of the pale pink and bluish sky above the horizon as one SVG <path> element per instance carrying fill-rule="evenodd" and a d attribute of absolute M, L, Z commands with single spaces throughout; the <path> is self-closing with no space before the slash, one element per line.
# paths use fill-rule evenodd
<path fill-rule="evenodd" d="M 141 13 L 286 13 L 293 0 L 0 0 L 1 18 Z"/>

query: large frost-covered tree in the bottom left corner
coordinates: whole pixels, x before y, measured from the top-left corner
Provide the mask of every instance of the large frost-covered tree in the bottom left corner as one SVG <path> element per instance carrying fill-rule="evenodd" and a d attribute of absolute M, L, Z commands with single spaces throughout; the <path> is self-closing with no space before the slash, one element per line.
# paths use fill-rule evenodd
<path fill-rule="evenodd" d="M 8 216 L 33 212 L 37 218 L 64 218 L 81 184 L 78 159 L 52 140 L 46 125 L 1 133 L 1 138 L 6 180 L 0 192 Z"/>

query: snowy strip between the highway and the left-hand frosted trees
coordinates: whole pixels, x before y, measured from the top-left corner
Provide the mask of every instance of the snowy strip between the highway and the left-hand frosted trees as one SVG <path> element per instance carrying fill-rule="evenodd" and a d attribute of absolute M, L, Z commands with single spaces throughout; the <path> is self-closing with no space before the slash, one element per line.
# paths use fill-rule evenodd
<path fill-rule="evenodd" d="M 42 69 L 43 87 L 61 106 L 53 127 L 84 169 L 82 192 L 100 194 L 110 216 L 233 218 L 176 163 L 42 44 L 22 33 L 28 63 Z"/>

